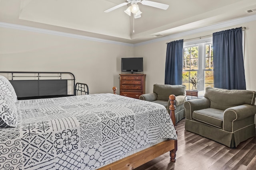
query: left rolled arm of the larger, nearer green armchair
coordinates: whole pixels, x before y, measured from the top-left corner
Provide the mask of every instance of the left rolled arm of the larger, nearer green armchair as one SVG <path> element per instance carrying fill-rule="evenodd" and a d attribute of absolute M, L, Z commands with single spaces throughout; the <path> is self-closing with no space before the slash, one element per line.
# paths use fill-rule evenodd
<path fill-rule="evenodd" d="M 187 100 L 184 102 L 186 119 L 192 120 L 192 113 L 195 110 L 206 109 L 210 107 L 210 100 L 207 98 Z"/>

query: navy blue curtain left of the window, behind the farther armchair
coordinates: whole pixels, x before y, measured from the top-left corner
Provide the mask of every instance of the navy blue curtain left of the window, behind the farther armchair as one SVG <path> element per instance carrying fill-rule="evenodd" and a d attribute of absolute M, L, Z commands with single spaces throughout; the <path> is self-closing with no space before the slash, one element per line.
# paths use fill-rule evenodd
<path fill-rule="evenodd" d="M 182 84 L 183 39 L 167 44 L 164 84 Z"/>

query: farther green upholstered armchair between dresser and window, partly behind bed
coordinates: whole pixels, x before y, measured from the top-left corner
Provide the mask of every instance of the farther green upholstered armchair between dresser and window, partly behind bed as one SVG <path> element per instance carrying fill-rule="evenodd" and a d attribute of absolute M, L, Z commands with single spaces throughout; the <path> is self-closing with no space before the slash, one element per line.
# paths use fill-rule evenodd
<path fill-rule="evenodd" d="M 170 113 L 169 106 L 170 100 L 169 96 L 174 94 L 176 96 L 175 105 L 176 109 L 174 111 L 176 123 L 185 117 L 185 85 L 169 85 L 169 84 L 154 84 L 153 93 L 142 94 L 140 95 L 140 100 L 146 100 L 149 102 L 154 102 L 158 104 L 164 105 L 166 109 L 168 109 L 168 113 Z"/>

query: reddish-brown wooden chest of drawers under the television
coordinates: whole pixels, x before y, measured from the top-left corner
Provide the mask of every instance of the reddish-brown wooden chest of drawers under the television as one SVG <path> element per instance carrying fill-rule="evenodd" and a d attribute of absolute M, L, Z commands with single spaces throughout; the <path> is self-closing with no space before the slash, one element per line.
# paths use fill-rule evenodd
<path fill-rule="evenodd" d="M 120 95 L 138 99 L 145 94 L 146 74 L 119 74 Z"/>

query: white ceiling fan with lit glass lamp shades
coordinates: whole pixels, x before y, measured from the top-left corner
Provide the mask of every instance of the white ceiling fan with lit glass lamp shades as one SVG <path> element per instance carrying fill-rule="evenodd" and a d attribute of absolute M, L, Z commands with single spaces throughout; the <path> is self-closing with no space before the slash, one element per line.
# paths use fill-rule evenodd
<path fill-rule="evenodd" d="M 146 6 L 152 6 L 155 8 L 160 8 L 162 10 L 167 10 L 167 8 L 169 7 L 169 5 L 167 5 L 167 4 L 162 4 L 159 2 L 153 2 L 153 1 L 149 1 L 149 0 L 126 0 L 126 1 L 127 2 L 116 5 L 112 8 L 109 8 L 109 9 L 105 10 L 104 12 L 110 12 L 110 11 L 116 10 L 117 8 L 125 6 L 127 4 L 131 4 L 124 12 L 126 14 L 128 14 L 129 16 L 131 16 L 131 13 L 134 14 L 134 18 L 140 18 L 141 17 L 140 14 L 142 14 L 142 12 L 140 11 L 137 3 L 141 3 L 142 5 L 146 5 Z"/>

